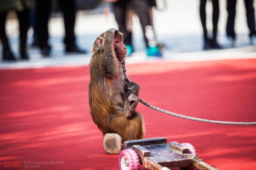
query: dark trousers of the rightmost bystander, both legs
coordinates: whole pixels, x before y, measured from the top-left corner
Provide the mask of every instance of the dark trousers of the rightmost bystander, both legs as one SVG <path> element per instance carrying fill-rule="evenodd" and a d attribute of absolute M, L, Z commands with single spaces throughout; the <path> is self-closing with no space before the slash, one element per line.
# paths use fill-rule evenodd
<path fill-rule="evenodd" d="M 256 35 L 255 31 L 255 16 L 253 8 L 253 0 L 244 0 L 247 16 L 247 25 L 250 29 L 250 37 Z M 234 31 L 235 16 L 236 16 L 236 0 L 227 0 L 228 22 L 226 27 L 227 36 L 235 38 Z"/>

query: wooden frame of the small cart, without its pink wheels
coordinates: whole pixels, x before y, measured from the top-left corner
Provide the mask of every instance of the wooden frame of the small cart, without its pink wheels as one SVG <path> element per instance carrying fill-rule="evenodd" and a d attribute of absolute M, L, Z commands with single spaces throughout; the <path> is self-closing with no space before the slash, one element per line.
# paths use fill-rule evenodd
<path fill-rule="evenodd" d="M 166 143 L 166 138 L 150 138 L 125 141 L 122 150 L 133 149 L 143 164 L 150 170 L 161 170 L 163 167 L 192 167 L 201 170 L 218 170 L 203 162 L 198 156 L 189 153 L 189 148 L 178 142 Z"/>

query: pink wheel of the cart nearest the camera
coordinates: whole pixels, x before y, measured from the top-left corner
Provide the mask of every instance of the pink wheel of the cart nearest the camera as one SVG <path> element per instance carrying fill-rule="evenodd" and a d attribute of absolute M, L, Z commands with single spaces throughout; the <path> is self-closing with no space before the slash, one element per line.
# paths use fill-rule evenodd
<path fill-rule="evenodd" d="M 138 154 L 132 149 L 125 149 L 120 152 L 118 157 L 120 170 L 139 170 L 140 159 Z"/>

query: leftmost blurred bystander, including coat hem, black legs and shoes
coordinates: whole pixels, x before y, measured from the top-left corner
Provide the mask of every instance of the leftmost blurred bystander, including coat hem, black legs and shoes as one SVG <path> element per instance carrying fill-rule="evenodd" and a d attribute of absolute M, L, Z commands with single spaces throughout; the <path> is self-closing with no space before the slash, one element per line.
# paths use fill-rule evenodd
<path fill-rule="evenodd" d="M 16 58 L 10 50 L 8 39 L 6 37 L 6 16 L 10 10 L 15 10 L 19 20 L 20 29 L 20 58 L 28 60 L 26 53 L 26 42 L 29 25 L 29 8 L 31 0 L 0 0 L 0 39 L 3 46 L 3 60 L 16 61 Z"/>

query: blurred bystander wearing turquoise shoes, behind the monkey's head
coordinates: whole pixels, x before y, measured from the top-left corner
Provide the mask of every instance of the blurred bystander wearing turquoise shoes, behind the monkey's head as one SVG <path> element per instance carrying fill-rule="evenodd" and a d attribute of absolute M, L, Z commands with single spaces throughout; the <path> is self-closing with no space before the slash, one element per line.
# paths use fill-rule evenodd
<path fill-rule="evenodd" d="M 132 9 L 140 19 L 140 25 L 144 33 L 144 40 L 148 56 L 161 57 L 162 53 L 157 47 L 154 29 L 150 21 L 147 0 L 107 0 L 112 2 L 113 12 L 118 23 L 119 31 L 124 33 L 124 44 L 127 47 L 128 55 L 132 52 L 131 30 L 127 30 L 127 10 Z"/>

